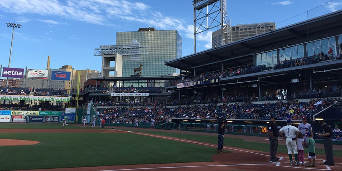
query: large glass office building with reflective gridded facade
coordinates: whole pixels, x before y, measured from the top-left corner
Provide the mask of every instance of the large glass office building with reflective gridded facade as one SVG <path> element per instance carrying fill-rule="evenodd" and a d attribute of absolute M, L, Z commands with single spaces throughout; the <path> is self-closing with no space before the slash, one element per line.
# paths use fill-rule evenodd
<path fill-rule="evenodd" d="M 141 46 L 149 47 L 149 54 L 140 55 L 139 60 L 123 61 L 122 77 L 133 75 L 133 68 L 143 64 L 141 75 L 146 77 L 163 76 L 179 73 L 179 70 L 164 65 L 182 57 L 182 38 L 177 30 L 155 30 L 154 28 L 139 28 L 139 31 L 117 32 L 116 44 L 132 44 L 137 40 Z"/>

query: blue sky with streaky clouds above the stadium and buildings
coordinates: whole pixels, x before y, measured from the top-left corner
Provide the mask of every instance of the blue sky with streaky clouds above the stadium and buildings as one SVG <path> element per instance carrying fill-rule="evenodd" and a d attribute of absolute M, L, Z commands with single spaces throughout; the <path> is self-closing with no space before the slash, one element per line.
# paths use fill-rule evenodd
<path fill-rule="evenodd" d="M 281 22 L 328 1 L 227 0 L 227 13 L 233 25 L 276 22 L 280 28 L 342 9 L 342 0 L 333 0 Z M 192 0 L 0 0 L 0 64 L 5 67 L 12 34 L 6 23 L 23 25 L 14 34 L 11 67 L 16 68 L 44 69 L 50 55 L 52 69 L 72 65 L 100 70 L 101 57 L 94 57 L 94 48 L 115 44 L 117 31 L 139 27 L 177 29 L 183 56 L 193 53 Z M 211 32 L 197 37 L 197 52 L 210 47 Z"/>

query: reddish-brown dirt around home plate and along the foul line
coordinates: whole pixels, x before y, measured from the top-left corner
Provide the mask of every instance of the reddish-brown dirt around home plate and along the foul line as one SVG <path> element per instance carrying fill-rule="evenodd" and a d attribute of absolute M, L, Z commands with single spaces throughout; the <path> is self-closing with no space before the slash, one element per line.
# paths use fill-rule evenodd
<path fill-rule="evenodd" d="M 65 130 L 65 129 L 64 129 Z M 64 132 L 64 130 L 61 130 Z M 29 130 L 25 130 L 29 131 Z M 54 131 L 54 130 L 44 130 Z M 76 132 L 113 132 L 113 133 L 128 133 L 123 130 L 70 130 Z M 42 131 L 43 132 L 43 131 Z M 132 132 L 134 134 L 151 136 L 161 139 L 167 139 L 172 141 L 179 141 L 184 143 L 191 143 L 196 145 L 203 145 L 212 147 L 213 150 L 216 148 L 216 144 L 197 142 L 192 140 L 179 139 L 168 136 L 154 135 L 141 132 Z M 224 146 L 225 150 L 229 150 L 232 153 L 223 153 L 212 156 L 213 162 L 189 162 L 189 163 L 165 163 L 165 164 L 146 164 L 146 165 L 118 165 L 118 166 L 100 166 L 100 167 L 80 167 L 80 168 L 60 168 L 60 169 L 38 169 L 31 171 L 129 171 L 129 170 L 161 170 L 161 171 L 223 171 L 223 170 L 244 170 L 244 171 L 255 171 L 255 170 L 287 170 L 287 171 L 298 171 L 298 170 L 341 170 L 342 169 L 342 157 L 335 157 L 335 166 L 325 166 L 325 156 L 317 155 L 316 167 L 308 168 L 304 166 L 291 166 L 289 163 L 288 155 L 285 153 L 277 154 L 280 157 L 278 163 L 270 163 L 269 155 L 266 152 L 259 152 L 255 150 L 248 150 L 236 147 Z M 306 158 L 306 157 L 305 157 Z"/>

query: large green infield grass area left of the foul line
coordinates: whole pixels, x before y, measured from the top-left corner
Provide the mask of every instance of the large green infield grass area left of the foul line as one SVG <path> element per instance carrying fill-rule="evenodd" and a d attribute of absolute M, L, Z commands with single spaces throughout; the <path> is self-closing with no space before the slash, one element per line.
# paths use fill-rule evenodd
<path fill-rule="evenodd" d="M 0 133 L 41 143 L 0 146 L 0 170 L 212 161 L 211 147 L 133 133 Z"/>

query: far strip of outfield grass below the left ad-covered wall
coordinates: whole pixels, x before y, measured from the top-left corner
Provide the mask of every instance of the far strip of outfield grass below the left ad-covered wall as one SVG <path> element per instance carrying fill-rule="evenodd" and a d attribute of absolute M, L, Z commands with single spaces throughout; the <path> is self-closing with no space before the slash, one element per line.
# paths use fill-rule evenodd
<path fill-rule="evenodd" d="M 63 123 L 1 123 L 0 129 L 84 129 L 80 124 L 70 124 L 62 128 Z M 94 129 L 86 125 L 85 129 Z M 96 126 L 95 129 L 100 129 Z"/>

